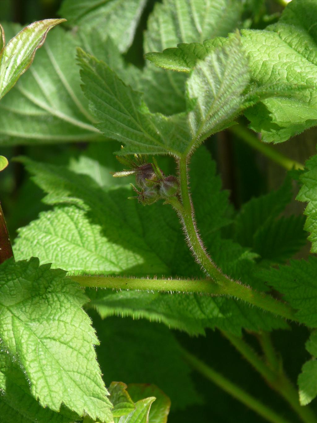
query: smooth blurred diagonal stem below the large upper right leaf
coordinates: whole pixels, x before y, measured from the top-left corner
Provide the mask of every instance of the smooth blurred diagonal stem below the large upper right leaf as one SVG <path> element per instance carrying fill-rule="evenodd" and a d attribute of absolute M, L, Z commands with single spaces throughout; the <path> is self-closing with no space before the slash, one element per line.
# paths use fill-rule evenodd
<path fill-rule="evenodd" d="M 278 165 L 280 165 L 286 170 L 291 170 L 293 168 L 304 168 L 301 163 L 296 162 L 295 160 L 292 160 L 287 156 L 284 156 L 284 154 L 281 154 L 279 151 L 276 151 L 273 147 L 260 141 L 254 134 L 254 132 L 250 131 L 242 125 L 233 125 L 230 127 L 229 131 L 237 135 L 239 138 L 249 144 L 249 146 L 255 148 L 257 151 L 260 151 L 266 157 L 273 160 L 273 162 L 276 162 Z"/>

